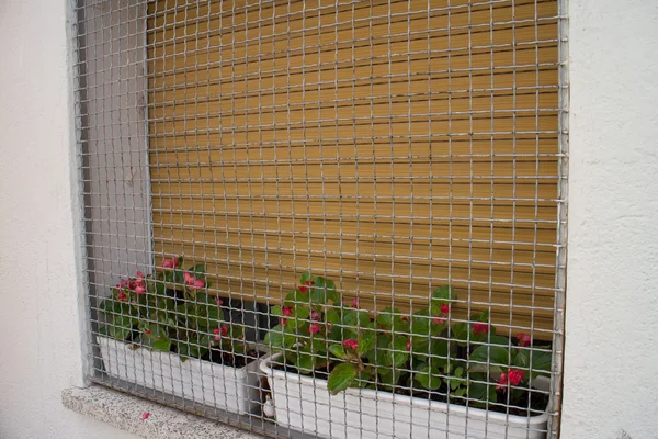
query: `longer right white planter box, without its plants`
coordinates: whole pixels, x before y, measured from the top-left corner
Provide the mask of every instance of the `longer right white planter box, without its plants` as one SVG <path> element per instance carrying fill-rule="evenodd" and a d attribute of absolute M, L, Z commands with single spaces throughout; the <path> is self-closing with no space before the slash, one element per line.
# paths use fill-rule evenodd
<path fill-rule="evenodd" d="M 507 416 L 388 392 L 348 389 L 332 396 L 327 381 L 261 362 L 273 393 L 276 423 L 325 438 L 544 439 L 546 413 Z M 447 432 L 447 435 L 446 435 Z M 506 436 L 507 435 L 507 436 Z"/>

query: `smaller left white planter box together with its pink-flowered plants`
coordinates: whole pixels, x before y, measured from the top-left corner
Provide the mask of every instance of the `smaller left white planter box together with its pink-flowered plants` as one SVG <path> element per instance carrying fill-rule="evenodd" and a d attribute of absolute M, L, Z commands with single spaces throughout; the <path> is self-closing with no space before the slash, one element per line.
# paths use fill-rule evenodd
<path fill-rule="evenodd" d="M 260 404 L 258 353 L 207 292 L 203 264 L 166 259 L 157 275 L 122 279 L 99 309 L 98 342 L 114 378 L 239 414 Z"/>

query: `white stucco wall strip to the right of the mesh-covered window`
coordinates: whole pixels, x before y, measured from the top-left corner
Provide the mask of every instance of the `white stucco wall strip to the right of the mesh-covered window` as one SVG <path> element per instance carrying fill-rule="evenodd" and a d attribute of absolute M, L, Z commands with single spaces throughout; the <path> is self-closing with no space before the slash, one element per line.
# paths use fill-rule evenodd
<path fill-rule="evenodd" d="M 563 439 L 658 437 L 658 2 L 571 0 Z"/>

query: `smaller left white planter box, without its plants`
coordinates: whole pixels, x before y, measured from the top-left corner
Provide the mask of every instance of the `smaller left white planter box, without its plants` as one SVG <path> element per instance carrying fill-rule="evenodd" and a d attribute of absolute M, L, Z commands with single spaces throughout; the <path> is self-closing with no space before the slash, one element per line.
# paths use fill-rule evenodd
<path fill-rule="evenodd" d="M 260 404 L 260 360 L 236 369 L 97 338 L 111 376 L 238 414 L 249 414 Z"/>

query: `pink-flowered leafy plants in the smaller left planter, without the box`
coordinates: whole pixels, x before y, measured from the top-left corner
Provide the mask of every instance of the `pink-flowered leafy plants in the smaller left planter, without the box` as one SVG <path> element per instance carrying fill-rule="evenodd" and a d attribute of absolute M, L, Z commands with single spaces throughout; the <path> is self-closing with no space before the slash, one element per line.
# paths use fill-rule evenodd
<path fill-rule="evenodd" d="M 183 360 L 223 362 L 223 354 L 245 354 L 242 327 L 231 324 L 222 300 L 207 292 L 205 266 L 182 269 L 183 262 L 164 259 L 155 277 L 137 272 L 122 279 L 99 307 L 106 318 L 100 334 L 135 348 L 177 352 Z"/>

